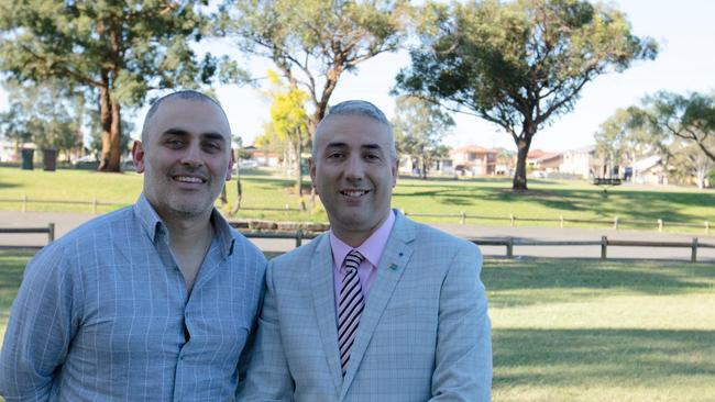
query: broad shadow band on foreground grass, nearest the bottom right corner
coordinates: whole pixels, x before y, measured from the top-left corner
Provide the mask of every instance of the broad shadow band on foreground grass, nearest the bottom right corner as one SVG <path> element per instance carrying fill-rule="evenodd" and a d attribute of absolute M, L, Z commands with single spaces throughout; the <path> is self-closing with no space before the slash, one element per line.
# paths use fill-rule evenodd
<path fill-rule="evenodd" d="M 494 330 L 494 388 L 607 387 L 715 375 L 714 331 Z"/>

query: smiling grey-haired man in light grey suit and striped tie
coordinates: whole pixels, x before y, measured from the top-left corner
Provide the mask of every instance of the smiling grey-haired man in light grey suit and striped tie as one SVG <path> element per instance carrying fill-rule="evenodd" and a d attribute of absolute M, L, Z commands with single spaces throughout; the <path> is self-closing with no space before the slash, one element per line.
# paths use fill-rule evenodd
<path fill-rule="evenodd" d="M 310 163 L 329 233 L 275 258 L 245 401 L 488 401 L 479 248 L 391 210 L 395 139 L 372 103 L 320 122 Z"/>

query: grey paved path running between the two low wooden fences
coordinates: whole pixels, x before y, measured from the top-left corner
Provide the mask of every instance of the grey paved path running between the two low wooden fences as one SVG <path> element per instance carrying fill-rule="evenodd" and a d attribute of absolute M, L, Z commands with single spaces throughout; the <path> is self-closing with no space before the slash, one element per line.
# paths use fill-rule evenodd
<path fill-rule="evenodd" d="M 16 212 L 0 211 L 0 227 L 46 227 L 55 224 L 55 238 L 59 238 L 74 227 L 96 217 L 88 213 L 61 212 Z M 428 223 L 429 225 L 451 233 L 459 237 L 480 239 L 504 239 L 506 237 L 525 241 L 601 241 L 607 236 L 609 241 L 641 241 L 641 242 L 679 242 L 691 243 L 697 237 L 700 243 L 715 245 L 715 234 L 670 234 L 654 231 L 614 231 L 610 228 L 574 228 L 574 227 L 509 227 L 484 226 L 459 223 Z M 287 252 L 295 247 L 294 239 L 252 239 L 265 252 Z M 46 234 L 4 234 L 0 233 L 0 246 L 8 247 L 41 247 L 47 244 Z M 504 257 L 505 246 L 482 246 L 486 257 Z M 600 246 L 515 246 L 515 258 L 521 257 L 553 257 L 553 258 L 600 258 Z M 619 259 L 678 259 L 690 260 L 690 248 L 663 247 L 616 247 L 608 246 L 608 258 Z M 698 248 L 697 260 L 715 264 L 715 248 Z"/>

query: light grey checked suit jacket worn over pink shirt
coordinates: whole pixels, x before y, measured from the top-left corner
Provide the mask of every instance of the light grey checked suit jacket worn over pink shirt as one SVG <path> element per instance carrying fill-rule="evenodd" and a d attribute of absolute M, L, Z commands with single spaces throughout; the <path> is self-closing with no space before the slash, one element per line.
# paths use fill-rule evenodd
<path fill-rule="evenodd" d="M 327 234 L 273 259 L 241 401 L 488 401 L 492 342 L 479 248 L 397 213 L 348 372 Z"/>

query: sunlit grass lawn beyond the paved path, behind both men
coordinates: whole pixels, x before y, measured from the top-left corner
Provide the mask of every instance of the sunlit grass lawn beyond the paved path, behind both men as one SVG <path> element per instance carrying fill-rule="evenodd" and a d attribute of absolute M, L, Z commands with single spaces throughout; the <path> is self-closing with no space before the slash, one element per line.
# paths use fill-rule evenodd
<path fill-rule="evenodd" d="M 305 187 L 308 189 L 309 179 Z M 296 209 L 298 198 L 293 193 L 292 180 L 263 170 L 248 171 L 243 176 L 243 202 L 246 208 L 238 217 L 280 221 L 326 222 L 324 212 L 317 200 L 315 212 L 267 212 L 252 208 Z M 704 233 L 704 221 L 711 222 L 715 233 L 715 190 L 675 187 L 620 186 L 608 190 L 585 181 L 530 180 L 529 191 L 513 192 L 508 178 L 477 179 L 399 179 L 395 188 L 393 205 L 407 213 L 454 213 L 464 211 L 471 215 L 516 215 L 517 225 L 548 225 L 558 223 L 519 222 L 519 217 L 558 220 L 608 220 L 618 216 L 619 227 L 654 231 L 657 220 L 664 221 L 668 232 Z M 100 174 L 87 170 L 20 170 L 0 168 L 0 199 L 84 200 L 113 202 L 116 206 L 100 206 L 107 212 L 119 205 L 128 205 L 136 199 L 142 188 L 142 177 L 134 172 Z M 235 181 L 228 185 L 229 203 L 237 199 Z M 309 197 L 306 202 L 310 204 Z M 19 211 L 19 202 L 0 202 L 0 209 Z M 34 211 L 91 212 L 91 205 L 28 204 Z M 226 208 L 230 210 L 230 205 Z M 418 220 L 458 222 L 458 217 L 418 217 Z M 628 220 L 648 221 L 646 225 L 624 224 Z M 676 227 L 672 222 L 688 222 L 700 227 Z M 507 225 L 508 221 L 469 220 L 468 223 Z M 671 224 L 669 224 L 671 223 Z M 568 226 L 600 226 L 603 224 L 566 223 Z M 607 226 L 606 226 L 607 227 Z"/>

